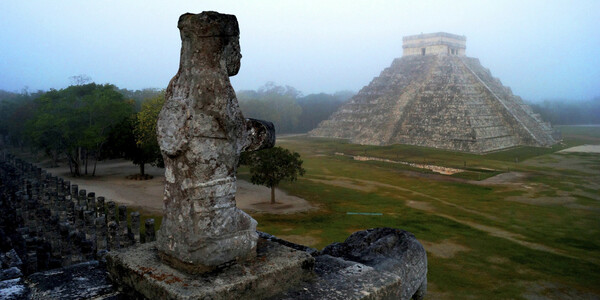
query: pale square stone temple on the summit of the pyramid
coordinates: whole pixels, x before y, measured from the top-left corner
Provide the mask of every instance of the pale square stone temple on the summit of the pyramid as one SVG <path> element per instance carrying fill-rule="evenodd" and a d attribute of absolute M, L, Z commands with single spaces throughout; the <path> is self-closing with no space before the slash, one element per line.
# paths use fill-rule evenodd
<path fill-rule="evenodd" d="M 409 35 L 402 38 L 402 56 L 456 55 L 465 56 L 467 37 L 446 32 Z"/>

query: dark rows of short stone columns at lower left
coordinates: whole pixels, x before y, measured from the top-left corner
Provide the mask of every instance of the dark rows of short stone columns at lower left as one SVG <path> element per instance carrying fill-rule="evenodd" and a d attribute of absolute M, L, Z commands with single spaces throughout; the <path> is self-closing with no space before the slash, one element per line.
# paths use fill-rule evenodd
<path fill-rule="evenodd" d="M 12 251 L 22 272 L 102 258 L 107 251 L 155 239 L 154 220 L 140 234 L 140 214 L 79 190 L 60 177 L 0 152 L 1 253 Z"/>

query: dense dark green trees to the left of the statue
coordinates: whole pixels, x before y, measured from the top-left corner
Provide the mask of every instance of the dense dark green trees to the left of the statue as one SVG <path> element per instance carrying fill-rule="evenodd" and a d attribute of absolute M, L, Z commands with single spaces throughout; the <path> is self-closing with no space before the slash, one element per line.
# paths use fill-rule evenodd
<path fill-rule="evenodd" d="M 111 84 L 12 93 L 0 90 L 0 145 L 41 151 L 66 160 L 75 176 L 95 173 L 98 160 L 126 158 L 160 165 L 156 118 L 164 91 L 130 91 Z"/>

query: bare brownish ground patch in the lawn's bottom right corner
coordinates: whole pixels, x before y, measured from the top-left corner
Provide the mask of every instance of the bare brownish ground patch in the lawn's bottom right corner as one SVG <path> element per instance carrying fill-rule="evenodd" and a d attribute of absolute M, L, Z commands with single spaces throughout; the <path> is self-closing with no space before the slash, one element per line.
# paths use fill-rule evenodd
<path fill-rule="evenodd" d="M 586 291 L 580 291 L 573 287 L 564 284 L 539 281 L 525 283 L 527 291 L 523 293 L 523 297 L 528 300 L 592 300 L 600 299 L 597 294 L 592 294 Z"/>

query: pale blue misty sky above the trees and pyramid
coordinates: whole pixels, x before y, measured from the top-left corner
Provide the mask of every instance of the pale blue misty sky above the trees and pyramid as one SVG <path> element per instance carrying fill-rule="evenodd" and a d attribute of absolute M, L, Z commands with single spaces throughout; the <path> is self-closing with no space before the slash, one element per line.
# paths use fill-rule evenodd
<path fill-rule="evenodd" d="M 600 96 L 600 1 L 0 1 L 0 89 L 60 89 L 87 74 L 165 88 L 179 15 L 235 14 L 235 89 L 358 91 L 402 56 L 402 37 L 445 31 L 526 100 Z"/>

